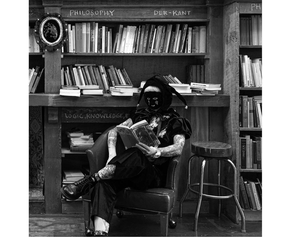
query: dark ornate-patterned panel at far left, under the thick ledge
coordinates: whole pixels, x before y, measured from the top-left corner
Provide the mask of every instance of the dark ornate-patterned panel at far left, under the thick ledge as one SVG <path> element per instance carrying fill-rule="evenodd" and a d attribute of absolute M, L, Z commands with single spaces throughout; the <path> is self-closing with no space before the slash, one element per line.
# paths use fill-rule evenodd
<path fill-rule="evenodd" d="M 29 106 L 29 187 L 43 187 L 43 183 L 42 111 L 40 106 Z"/>

